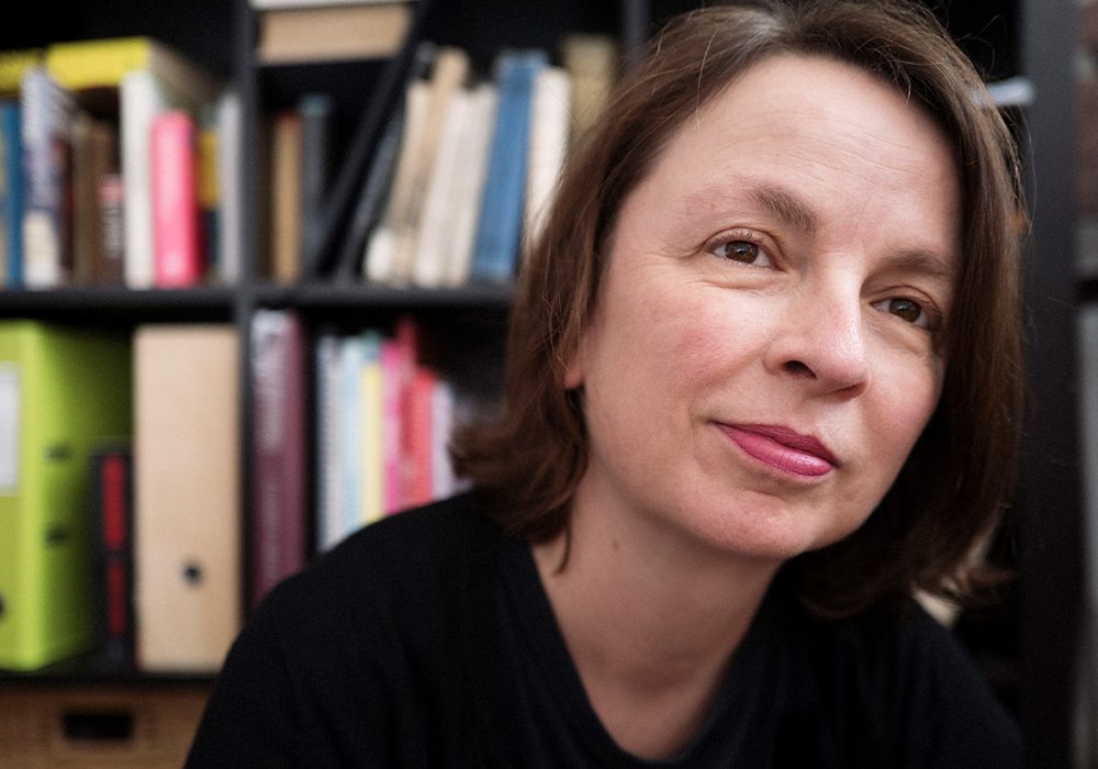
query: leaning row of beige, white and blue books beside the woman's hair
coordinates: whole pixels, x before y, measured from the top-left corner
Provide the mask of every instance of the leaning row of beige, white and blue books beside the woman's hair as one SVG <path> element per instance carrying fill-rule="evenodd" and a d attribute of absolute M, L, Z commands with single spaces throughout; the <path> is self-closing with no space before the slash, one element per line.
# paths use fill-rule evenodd
<path fill-rule="evenodd" d="M 572 49 L 584 44 L 614 58 L 609 38 L 569 38 Z M 373 211 L 357 212 L 337 269 L 390 286 L 506 285 L 551 204 L 576 99 L 590 100 L 600 59 L 554 65 L 542 49 L 508 48 L 478 81 L 463 51 L 424 48 L 363 186 Z"/>

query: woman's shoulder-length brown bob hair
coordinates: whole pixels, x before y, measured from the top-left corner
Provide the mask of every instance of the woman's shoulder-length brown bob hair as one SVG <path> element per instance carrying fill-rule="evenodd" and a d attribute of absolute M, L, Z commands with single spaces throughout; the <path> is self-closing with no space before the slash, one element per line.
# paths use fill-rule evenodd
<path fill-rule="evenodd" d="M 916 588 L 960 597 L 977 581 L 973 549 L 997 525 L 1013 486 L 1021 193 L 1011 134 L 978 75 L 933 15 L 906 0 L 717 5 L 664 27 L 569 158 L 553 211 L 524 257 L 504 412 L 459 433 L 456 468 L 515 536 L 541 540 L 567 526 L 587 445 L 580 402 L 562 386 L 562 360 L 594 305 L 621 202 L 691 114 L 778 53 L 854 64 L 933 114 L 957 153 L 964 230 L 934 414 L 870 520 L 789 568 L 806 605 L 821 615 L 851 614 Z"/>

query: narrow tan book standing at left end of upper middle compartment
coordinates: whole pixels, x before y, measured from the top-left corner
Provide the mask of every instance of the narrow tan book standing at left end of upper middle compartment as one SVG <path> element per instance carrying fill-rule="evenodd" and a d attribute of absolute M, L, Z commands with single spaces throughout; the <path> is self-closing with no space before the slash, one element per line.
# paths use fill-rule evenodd
<path fill-rule="evenodd" d="M 301 277 L 302 119 L 282 110 L 271 123 L 271 278 L 291 285 Z"/>

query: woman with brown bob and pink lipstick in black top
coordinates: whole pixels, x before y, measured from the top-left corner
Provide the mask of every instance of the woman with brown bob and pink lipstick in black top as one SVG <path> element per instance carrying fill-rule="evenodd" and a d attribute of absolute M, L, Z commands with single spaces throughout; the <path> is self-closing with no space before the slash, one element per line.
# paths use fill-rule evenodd
<path fill-rule="evenodd" d="M 191 765 L 1019 765 L 911 598 L 1010 488 L 1016 165 L 926 12 L 676 20 L 527 255 L 473 491 L 283 583 Z"/>

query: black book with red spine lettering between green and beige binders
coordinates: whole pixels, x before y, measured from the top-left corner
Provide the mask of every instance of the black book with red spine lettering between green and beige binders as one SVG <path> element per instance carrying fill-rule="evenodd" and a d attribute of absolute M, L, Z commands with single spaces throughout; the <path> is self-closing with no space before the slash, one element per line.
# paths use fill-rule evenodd
<path fill-rule="evenodd" d="M 134 656 L 133 454 L 128 444 L 91 456 L 92 584 L 97 660 L 130 669 Z"/>

